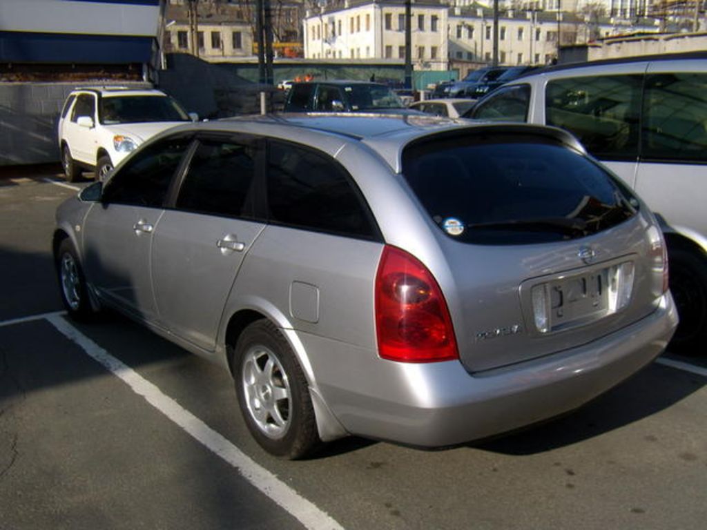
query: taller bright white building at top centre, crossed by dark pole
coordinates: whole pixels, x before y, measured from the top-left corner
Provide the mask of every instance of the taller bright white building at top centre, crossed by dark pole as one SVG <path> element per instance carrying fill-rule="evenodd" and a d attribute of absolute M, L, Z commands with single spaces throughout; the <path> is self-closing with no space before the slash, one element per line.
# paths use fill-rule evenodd
<path fill-rule="evenodd" d="M 411 55 L 415 69 L 448 68 L 448 6 L 412 4 Z M 405 59 L 402 0 L 346 1 L 344 8 L 308 13 L 303 20 L 305 59 Z"/>

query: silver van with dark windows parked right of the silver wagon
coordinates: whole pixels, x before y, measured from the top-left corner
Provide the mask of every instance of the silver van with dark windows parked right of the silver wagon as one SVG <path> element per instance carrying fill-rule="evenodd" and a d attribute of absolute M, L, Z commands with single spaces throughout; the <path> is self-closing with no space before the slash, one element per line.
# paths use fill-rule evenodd
<path fill-rule="evenodd" d="M 680 326 L 671 348 L 707 341 L 707 53 L 558 66 L 513 81 L 469 114 L 562 127 L 643 196 L 670 255 Z"/>

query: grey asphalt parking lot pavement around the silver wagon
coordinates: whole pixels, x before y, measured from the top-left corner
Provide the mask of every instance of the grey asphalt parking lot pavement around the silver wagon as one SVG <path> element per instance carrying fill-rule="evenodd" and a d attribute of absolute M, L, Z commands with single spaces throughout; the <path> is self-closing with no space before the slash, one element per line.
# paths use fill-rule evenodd
<path fill-rule="evenodd" d="M 667 353 L 570 416 L 281 461 L 228 373 L 115 314 L 66 319 L 59 168 L 0 171 L 0 529 L 703 529 L 707 363 Z M 464 418 L 460 418 L 463 421 Z"/>

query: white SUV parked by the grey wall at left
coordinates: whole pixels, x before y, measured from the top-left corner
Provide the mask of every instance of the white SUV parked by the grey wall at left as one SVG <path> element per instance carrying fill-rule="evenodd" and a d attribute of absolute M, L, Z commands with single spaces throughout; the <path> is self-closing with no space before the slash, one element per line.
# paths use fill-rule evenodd
<path fill-rule="evenodd" d="M 83 169 L 105 179 L 128 153 L 158 132 L 197 119 L 160 90 L 87 87 L 73 90 L 59 117 L 66 178 Z"/>

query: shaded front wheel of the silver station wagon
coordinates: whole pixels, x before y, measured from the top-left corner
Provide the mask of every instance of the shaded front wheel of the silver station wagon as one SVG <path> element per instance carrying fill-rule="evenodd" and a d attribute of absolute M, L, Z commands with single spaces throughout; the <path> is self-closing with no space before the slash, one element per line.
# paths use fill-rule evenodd
<path fill-rule="evenodd" d="M 59 279 L 59 294 L 69 316 L 84 322 L 95 317 L 96 310 L 88 298 L 81 261 L 78 260 L 76 249 L 68 237 L 59 244 L 54 256 L 54 265 Z"/>

